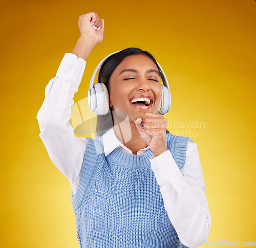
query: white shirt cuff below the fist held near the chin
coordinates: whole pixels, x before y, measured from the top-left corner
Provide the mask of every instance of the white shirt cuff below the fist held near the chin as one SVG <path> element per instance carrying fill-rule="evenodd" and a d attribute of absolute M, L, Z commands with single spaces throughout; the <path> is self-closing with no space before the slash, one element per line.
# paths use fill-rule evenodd
<path fill-rule="evenodd" d="M 172 182 L 172 178 L 181 173 L 169 150 L 164 151 L 154 159 L 151 158 L 150 161 L 151 169 L 155 173 L 160 187 L 168 181 Z"/>

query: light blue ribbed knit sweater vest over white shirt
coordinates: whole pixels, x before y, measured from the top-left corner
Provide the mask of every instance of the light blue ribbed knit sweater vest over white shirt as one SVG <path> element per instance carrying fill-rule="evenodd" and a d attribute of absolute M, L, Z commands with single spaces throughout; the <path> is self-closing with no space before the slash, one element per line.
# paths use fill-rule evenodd
<path fill-rule="evenodd" d="M 166 134 L 180 170 L 190 138 Z M 186 247 L 164 208 L 150 149 L 104 155 L 102 137 L 88 139 L 77 192 L 71 196 L 80 248 Z"/>

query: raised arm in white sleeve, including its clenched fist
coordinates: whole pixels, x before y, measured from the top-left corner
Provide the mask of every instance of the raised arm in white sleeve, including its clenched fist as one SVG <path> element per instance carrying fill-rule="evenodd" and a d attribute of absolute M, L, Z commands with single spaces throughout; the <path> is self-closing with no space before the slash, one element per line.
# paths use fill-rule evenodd
<path fill-rule="evenodd" d="M 79 37 L 72 53 L 63 57 L 57 74 L 45 89 L 45 100 L 37 113 L 39 137 L 51 161 L 65 174 L 75 194 L 87 140 L 77 138 L 69 123 L 74 94 L 78 91 L 86 60 L 103 38 L 104 21 L 95 12 L 79 17 Z M 97 30 L 98 28 L 98 30 Z"/>

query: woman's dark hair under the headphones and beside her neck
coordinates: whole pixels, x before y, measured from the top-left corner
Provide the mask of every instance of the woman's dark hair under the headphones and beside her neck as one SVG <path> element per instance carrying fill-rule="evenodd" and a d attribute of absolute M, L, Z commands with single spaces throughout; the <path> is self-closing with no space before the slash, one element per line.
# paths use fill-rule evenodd
<path fill-rule="evenodd" d="M 156 64 L 158 71 L 160 73 L 159 66 L 157 64 L 156 59 L 151 53 L 147 51 L 143 51 L 139 48 L 126 48 L 116 54 L 113 54 L 109 58 L 107 58 L 101 65 L 99 76 L 98 76 L 98 83 L 104 83 L 106 88 L 109 91 L 109 81 L 112 73 L 116 69 L 116 67 L 127 57 L 131 55 L 137 54 L 145 54 L 146 56 L 150 57 L 153 62 Z M 96 124 L 96 135 L 102 136 L 106 131 L 108 131 L 111 127 L 113 127 L 113 116 L 112 111 L 109 111 L 106 115 L 97 115 L 97 124 Z"/>

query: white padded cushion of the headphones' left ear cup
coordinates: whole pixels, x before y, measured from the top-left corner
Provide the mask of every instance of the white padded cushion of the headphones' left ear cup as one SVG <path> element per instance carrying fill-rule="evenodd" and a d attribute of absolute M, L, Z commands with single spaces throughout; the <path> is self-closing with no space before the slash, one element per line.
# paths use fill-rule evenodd
<path fill-rule="evenodd" d="M 106 115 L 109 112 L 109 92 L 106 85 L 103 83 L 94 84 L 95 96 L 96 96 L 96 107 L 95 114 Z"/>

